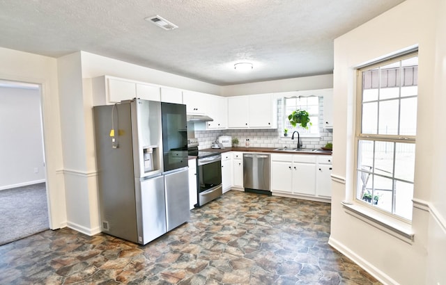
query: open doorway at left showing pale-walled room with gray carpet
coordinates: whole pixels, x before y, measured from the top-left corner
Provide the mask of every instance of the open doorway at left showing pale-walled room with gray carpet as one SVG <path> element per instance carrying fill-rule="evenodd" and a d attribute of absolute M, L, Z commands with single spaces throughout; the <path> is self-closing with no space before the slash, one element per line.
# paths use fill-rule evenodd
<path fill-rule="evenodd" d="M 49 229 L 41 98 L 0 80 L 0 245 Z"/>

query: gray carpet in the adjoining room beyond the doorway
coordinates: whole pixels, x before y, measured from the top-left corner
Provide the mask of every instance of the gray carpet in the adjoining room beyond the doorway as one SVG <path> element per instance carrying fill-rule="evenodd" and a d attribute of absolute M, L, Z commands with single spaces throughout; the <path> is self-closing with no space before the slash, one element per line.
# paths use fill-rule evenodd
<path fill-rule="evenodd" d="M 0 190 L 0 245 L 49 229 L 45 183 Z"/>

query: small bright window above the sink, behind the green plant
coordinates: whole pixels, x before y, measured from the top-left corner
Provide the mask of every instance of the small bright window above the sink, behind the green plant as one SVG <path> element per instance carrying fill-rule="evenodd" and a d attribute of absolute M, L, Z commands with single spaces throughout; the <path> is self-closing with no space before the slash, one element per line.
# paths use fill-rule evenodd
<path fill-rule="evenodd" d="M 312 96 L 295 96 L 295 97 L 284 97 L 282 99 L 283 104 L 283 116 L 282 116 L 282 126 L 284 128 L 289 129 L 289 133 L 293 133 L 293 131 L 298 131 L 300 136 L 302 137 L 318 137 L 319 134 L 319 106 L 321 105 L 321 98 L 316 95 Z M 309 114 L 310 122 L 312 123 L 308 129 L 302 127 L 293 127 L 291 126 L 288 115 L 290 115 L 293 111 L 296 110 L 305 110 Z"/>

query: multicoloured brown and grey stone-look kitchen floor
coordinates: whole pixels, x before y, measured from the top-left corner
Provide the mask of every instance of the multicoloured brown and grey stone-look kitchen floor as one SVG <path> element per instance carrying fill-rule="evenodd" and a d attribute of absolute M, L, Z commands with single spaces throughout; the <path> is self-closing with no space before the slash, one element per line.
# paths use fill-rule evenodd
<path fill-rule="evenodd" d="M 141 246 L 72 229 L 0 247 L 0 284 L 380 284 L 328 245 L 330 204 L 231 190 Z"/>

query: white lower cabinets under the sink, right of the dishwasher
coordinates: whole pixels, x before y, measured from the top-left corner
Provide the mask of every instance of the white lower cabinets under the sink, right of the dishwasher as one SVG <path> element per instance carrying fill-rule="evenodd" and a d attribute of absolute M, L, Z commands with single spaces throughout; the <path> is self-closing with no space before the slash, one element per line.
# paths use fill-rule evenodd
<path fill-rule="evenodd" d="M 331 156 L 271 154 L 271 191 L 330 198 L 330 161 Z"/>

